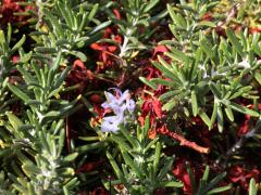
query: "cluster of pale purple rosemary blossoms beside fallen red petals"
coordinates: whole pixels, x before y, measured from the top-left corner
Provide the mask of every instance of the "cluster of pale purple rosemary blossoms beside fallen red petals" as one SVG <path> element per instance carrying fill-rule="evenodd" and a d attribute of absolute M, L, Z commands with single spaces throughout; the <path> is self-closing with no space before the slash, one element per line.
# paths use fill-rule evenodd
<path fill-rule="evenodd" d="M 111 108 L 115 116 L 108 116 L 103 118 L 101 123 L 102 132 L 116 132 L 119 130 L 120 123 L 125 123 L 126 118 L 133 115 L 135 109 L 135 102 L 130 99 L 128 90 L 122 91 L 120 89 L 113 88 L 116 92 L 114 96 L 110 92 L 104 92 L 107 102 L 102 103 L 103 108 Z"/>

